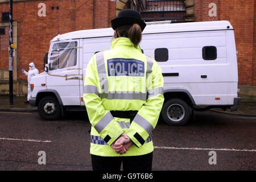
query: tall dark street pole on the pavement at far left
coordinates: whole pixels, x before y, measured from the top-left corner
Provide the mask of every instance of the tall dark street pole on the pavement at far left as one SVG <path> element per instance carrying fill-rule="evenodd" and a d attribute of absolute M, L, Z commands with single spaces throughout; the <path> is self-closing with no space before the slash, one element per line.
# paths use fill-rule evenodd
<path fill-rule="evenodd" d="M 13 105 L 13 0 L 9 1 L 9 105 Z"/>

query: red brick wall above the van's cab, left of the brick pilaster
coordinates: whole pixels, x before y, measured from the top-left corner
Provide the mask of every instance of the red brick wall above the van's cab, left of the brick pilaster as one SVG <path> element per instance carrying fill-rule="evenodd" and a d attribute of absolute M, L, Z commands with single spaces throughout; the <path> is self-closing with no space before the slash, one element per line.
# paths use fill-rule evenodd
<path fill-rule="evenodd" d="M 100 1 L 100 0 L 98 0 Z M 46 16 L 39 17 L 39 3 L 46 4 Z M 52 10 L 52 6 L 54 9 Z M 56 7 L 59 7 L 57 10 Z M 1 12 L 9 11 L 9 3 L 0 3 Z M 1 18 L 1 17 L 0 17 Z M 43 72 L 43 57 L 49 41 L 58 34 L 93 28 L 93 1 L 46 0 L 13 3 L 13 20 L 18 21 L 18 79 L 26 80 L 21 69 L 28 70 L 33 61 Z M 7 30 L 8 29 L 8 30 Z M 9 28 L 6 28 L 9 31 Z M 9 33 L 7 32 L 7 36 Z M 0 35 L 0 40 L 6 35 Z M 9 38 L 8 38 L 9 39 Z M 7 46 L 9 45 L 9 42 Z M 9 68 L 8 47 L 0 47 L 0 69 Z"/>

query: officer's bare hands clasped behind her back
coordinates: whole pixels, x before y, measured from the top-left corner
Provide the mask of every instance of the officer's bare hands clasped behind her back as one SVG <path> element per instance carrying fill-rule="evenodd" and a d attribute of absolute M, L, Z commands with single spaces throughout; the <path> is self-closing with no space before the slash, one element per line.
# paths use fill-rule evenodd
<path fill-rule="evenodd" d="M 123 133 L 115 142 L 111 144 L 111 147 L 117 154 L 125 154 L 129 150 L 129 147 L 133 145 L 133 141 Z"/>

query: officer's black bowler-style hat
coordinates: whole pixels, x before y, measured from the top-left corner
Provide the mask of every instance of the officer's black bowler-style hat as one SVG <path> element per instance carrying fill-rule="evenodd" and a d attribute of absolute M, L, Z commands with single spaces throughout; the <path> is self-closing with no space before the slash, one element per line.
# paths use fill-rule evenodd
<path fill-rule="evenodd" d="M 111 20 L 111 26 L 115 30 L 117 27 L 137 23 L 141 26 L 141 31 L 146 27 L 146 23 L 141 19 L 141 14 L 138 11 L 125 9 L 118 13 L 117 18 Z"/>

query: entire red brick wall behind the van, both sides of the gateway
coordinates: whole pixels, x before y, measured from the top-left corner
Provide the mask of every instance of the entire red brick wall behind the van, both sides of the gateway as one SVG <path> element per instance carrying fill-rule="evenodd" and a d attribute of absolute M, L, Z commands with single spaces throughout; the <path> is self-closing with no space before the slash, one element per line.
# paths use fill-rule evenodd
<path fill-rule="evenodd" d="M 46 4 L 46 17 L 38 16 L 38 4 L 41 2 Z M 209 3 L 216 3 L 216 17 L 208 15 Z M 56 9 L 57 6 L 59 10 Z M 43 72 L 44 53 L 49 49 L 49 41 L 58 32 L 64 34 L 76 30 L 110 27 L 110 20 L 115 17 L 115 1 L 109 0 L 24 1 L 14 2 L 13 9 L 13 18 L 18 21 L 18 79 L 22 80 L 26 80 L 26 76 L 20 70 L 27 70 L 31 60 Z M 4 11 L 9 11 L 9 3 L 0 3 L 0 16 Z M 232 23 L 238 51 L 240 85 L 256 85 L 255 11 L 254 0 L 195 0 L 197 22 L 229 20 Z M 8 31 L 9 28 L 6 27 L 6 35 L 0 35 L 0 69 L 9 68 L 8 48 L 3 46 Z M 9 42 L 7 46 L 8 44 Z"/>

